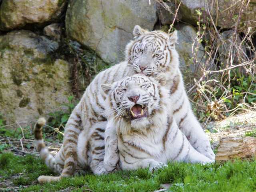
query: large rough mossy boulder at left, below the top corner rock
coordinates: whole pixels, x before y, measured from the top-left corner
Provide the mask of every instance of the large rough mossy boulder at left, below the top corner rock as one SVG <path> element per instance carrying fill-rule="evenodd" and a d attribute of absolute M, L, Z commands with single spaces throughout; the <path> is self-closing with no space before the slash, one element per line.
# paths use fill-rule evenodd
<path fill-rule="evenodd" d="M 57 48 L 30 31 L 0 36 L 0 113 L 7 123 L 31 120 L 67 102 L 69 66 L 50 57 Z"/>

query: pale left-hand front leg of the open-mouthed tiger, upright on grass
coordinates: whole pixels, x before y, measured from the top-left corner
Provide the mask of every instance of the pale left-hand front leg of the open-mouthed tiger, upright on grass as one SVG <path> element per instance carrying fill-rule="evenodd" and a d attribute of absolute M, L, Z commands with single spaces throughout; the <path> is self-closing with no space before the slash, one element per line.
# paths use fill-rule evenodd
<path fill-rule="evenodd" d="M 105 130 L 104 168 L 108 172 L 112 172 L 116 170 L 118 162 L 118 136 L 116 134 L 116 128 L 114 124 L 112 124 L 111 120 L 109 120 Z"/>

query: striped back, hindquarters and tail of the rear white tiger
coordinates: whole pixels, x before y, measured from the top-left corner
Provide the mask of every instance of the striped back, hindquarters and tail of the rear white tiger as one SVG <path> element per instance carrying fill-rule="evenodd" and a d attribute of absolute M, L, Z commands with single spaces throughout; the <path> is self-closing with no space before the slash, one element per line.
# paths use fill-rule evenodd
<path fill-rule="evenodd" d="M 102 91 L 102 83 L 112 83 L 123 76 L 132 75 L 127 62 L 121 62 L 100 72 L 86 88 L 80 102 L 72 111 L 64 131 L 63 145 L 53 157 L 44 145 L 42 137 L 42 120 L 35 125 L 34 132 L 36 146 L 41 158 L 60 177 L 40 176 L 40 182 L 59 180 L 61 177 L 71 176 L 78 170 L 90 166 L 95 174 L 104 172 L 104 131 L 106 118 L 104 117 L 104 100 L 106 94 Z"/>

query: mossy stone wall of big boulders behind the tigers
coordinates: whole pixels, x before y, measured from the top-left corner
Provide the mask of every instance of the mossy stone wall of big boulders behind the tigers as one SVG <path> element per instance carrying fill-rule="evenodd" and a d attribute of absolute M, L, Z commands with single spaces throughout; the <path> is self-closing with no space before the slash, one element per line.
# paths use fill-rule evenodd
<path fill-rule="evenodd" d="M 83 75 L 92 76 L 90 67 L 95 60 L 81 54 L 83 50 L 101 60 L 100 65 L 116 64 L 124 59 L 125 45 L 132 40 L 135 25 L 168 31 L 180 2 L 174 22 L 180 65 L 184 73 L 200 77 L 198 66 L 204 65 L 206 53 L 197 39 L 199 12 L 202 23 L 205 18 L 217 18 L 216 28 L 228 31 L 234 27 L 232 17 L 241 7 L 238 0 L 219 0 L 218 5 L 213 0 L 171 0 L 168 7 L 159 4 L 160 0 L 150 2 L 0 0 L 0 113 L 6 123 L 33 120 L 62 109 L 76 84 L 74 69 L 82 66 L 77 58 L 86 60 Z M 245 33 L 248 26 L 256 30 L 255 18 L 256 2 L 251 0 L 240 16 L 238 32 Z M 79 52 L 71 54 L 70 41 Z M 193 58 L 200 62 L 195 63 Z"/>

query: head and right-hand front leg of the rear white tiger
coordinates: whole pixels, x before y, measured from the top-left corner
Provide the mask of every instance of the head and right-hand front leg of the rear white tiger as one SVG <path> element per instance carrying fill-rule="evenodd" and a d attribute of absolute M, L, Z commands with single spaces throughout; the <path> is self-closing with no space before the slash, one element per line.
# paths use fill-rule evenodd
<path fill-rule="evenodd" d="M 179 56 L 175 49 L 177 32 L 166 34 L 162 31 L 148 32 L 135 26 L 135 40 L 126 46 L 126 60 L 137 73 L 154 76 L 170 90 L 173 114 L 180 130 L 192 146 L 211 160 L 215 154 L 210 142 L 193 114 L 182 74 L 179 69 Z"/>

